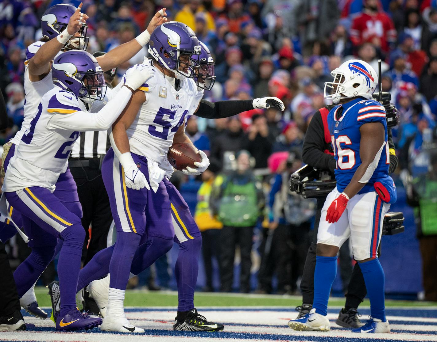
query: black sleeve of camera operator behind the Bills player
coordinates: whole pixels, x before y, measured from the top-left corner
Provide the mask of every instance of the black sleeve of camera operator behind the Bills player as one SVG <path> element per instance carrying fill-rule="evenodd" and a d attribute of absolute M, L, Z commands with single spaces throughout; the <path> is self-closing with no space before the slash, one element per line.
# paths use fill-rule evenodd
<path fill-rule="evenodd" d="M 334 171 L 334 156 L 323 152 L 325 150 L 325 134 L 320 111 L 312 117 L 305 134 L 302 147 L 302 160 L 304 163 L 322 170 Z"/>

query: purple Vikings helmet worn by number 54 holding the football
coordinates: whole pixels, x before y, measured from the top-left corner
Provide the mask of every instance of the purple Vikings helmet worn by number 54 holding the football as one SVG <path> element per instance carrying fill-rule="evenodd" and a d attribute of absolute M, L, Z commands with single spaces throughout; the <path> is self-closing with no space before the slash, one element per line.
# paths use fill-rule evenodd
<path fill-rule="evenodd" d="M 157 27 L 150 36 L 149 54 L 177 79 L 193 78 L 198 67 L 191 55 L 200 54 L 200 45 L 194 31 L 178 21 L 169 21 Z M 182 57 L 182 60 L 181 60 Z M 183 70 L 179 70 L 182 66 Z"/>

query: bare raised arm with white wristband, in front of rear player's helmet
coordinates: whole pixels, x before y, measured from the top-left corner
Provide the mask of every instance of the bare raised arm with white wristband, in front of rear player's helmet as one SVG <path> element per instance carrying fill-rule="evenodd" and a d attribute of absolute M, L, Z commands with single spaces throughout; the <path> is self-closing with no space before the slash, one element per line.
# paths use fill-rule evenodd
<path fill-rule="evenodd" d="M 80 3 L 76 12 L 70 17 L 67 28 L 56 38 L 43 44 L 29 60 L 29 78 L 32 82 L 43 79 L 49 73 L 50 62 L 52 62 L 56 54 L 61 51 L 66 42 L 80 30 L 82 24 L 86 23 L 88 16 L 80 12 L 81 8 L 82 3 Z"/>

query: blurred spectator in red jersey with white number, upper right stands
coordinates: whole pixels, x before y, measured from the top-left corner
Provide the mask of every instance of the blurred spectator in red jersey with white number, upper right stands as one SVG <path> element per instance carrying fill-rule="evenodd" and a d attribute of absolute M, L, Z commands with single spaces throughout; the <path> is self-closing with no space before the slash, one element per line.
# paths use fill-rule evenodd
<path fill-rule="evenodd" d="M 395 43 L 395 25 L 388 14 L 379 9 L 378 0 L 364 0 L 363 12 L 352 21 L 350 40 L 355 46 L 371 42 L 384 52 Z"/>

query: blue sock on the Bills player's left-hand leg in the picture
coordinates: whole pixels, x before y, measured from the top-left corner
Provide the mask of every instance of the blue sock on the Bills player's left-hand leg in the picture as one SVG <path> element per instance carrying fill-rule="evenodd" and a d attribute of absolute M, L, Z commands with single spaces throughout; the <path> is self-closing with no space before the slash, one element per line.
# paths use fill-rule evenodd
<path fill-rule="evenodd" d="M 312 307 L 320 315 L 328 314 L 329 293 L 337 274 L 337 257 L 316 257 L 314 300 Z"/>

